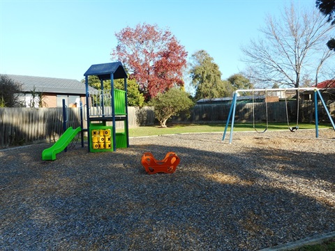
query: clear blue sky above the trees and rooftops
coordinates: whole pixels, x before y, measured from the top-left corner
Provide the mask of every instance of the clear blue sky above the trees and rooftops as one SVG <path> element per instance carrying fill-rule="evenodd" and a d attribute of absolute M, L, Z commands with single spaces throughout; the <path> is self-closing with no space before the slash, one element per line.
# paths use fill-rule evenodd
<path fill-rule="evenodd" d="M 313 8 L 315 0 L 293 0 Z M 83 79 L 111 61 L 115 32 L 146 22 L 168 28 L 188 56 L 206 50 L 223 79 L 244 70 L 240 47 L 290 0 L 0 0 L 0 73 Z"/>

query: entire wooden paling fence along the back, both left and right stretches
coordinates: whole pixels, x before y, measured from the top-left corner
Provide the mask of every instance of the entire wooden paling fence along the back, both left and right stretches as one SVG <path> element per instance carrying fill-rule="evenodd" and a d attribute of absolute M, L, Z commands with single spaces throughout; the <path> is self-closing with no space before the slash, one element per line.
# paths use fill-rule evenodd
<path fill-rule="evenodd" d="M 318 106 L 320 121 L 329 121 L 325 110 L 320 103 Z M 335 119 L 335 102 L 327 102 L 330 114 Z M 266 121 L 265 103 L 255 103 L 255 120 Z M 172 123 L 223 123 L 228 118 L 230 104 L 195 105 L 191 111 L 191 117 L 183 114 L 172 118 Z M 80 126 L 80 109 L 67 108 L 67 127 Z M 86 110 L 83 109 L 84 128 L 87 127 Z M 288 102 L 288 114 L 290 123 L 297 119 L 296 102 Z M 253 121 L 253 105 L 251 103 L 238 104 L 235 114 L 237 122 Z M 313 101 L 300 102 L 299 121 L 312 123 L 314 120 Z M 285 102 L 268 103 L 268 121 L 285 122 Z M 154 108 L 143 107 L 141 109 L 128 107 L 128 125 L 150 126 L 155 122 Z M 117 129 L 124 128 L 123 121 L 117 121 Z M 0 148 L 18 146 L 34 142 L 55 142 L 63 130 L 63 109 L 60 108 L 0 108 Z"/>

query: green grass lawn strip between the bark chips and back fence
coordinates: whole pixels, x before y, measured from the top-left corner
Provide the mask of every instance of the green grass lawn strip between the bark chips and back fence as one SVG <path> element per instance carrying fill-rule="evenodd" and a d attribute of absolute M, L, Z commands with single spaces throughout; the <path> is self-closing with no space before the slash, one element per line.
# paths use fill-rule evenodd
<path fill-rule="evenodd" d="M 293 126 L 293 125 L 292 125 Z M 256 128 L 258 131 L 264 130 L 266 124 L 258 124 Z M 332 125 L 322 124 L 319 128 L 332 128 Z M 299 123 L 299 130 L 303 129 L 315 129 L 315 124 L 311 123 Z M 197 132 L 222 132 L 225 130 L 225 123 L 206 123 L 206 124 L 170 124 L 167 128 L 161 128 L 159 126 L 140 126 L 137 128 L 129 128 L 130 137 L 141 137 L 141 136 L 153 136 L 153 135 L 169 135 L 178 133 L 197 133 Z M 235 123 L 234 132 L 238 131 L 253 131 L 252 123 Z M 288 130 L 286 123 L 274 123 L 269 124 L 267 130 Z M 230 128 L 228 128 L 230 132 Z"/>

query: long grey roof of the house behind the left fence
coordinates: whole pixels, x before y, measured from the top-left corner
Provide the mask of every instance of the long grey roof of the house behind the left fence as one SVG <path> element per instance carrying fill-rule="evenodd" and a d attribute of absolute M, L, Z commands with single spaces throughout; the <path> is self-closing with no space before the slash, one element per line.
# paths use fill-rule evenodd
<path fill-rule="evenodd" d="M 34 77 L 25 75 L 7 75 L 15 82 L 22 84 L 23 92 L 40 91 L 43 93 L 86 94 L 85 84 L 75 79 L 55 77 Z M 89 86 L 90 90 L 95 90 Z"/>

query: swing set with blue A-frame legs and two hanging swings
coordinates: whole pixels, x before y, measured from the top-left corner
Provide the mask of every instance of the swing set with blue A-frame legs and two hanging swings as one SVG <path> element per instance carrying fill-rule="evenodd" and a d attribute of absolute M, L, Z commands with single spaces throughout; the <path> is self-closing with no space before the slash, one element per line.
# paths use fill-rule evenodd
<path fill-rule="evenodd" d="M 306 87 L 306 88 L 288 88 L 288 89 L 283 89 L 283 88 L 278 88 L 278 89 L 241 89 L 234 91 L 234 96 L 232 98 L 232 105 L 230 105 L 230 111 L 228 114 L 228 119 L 227 123 L 225 124 L 225 131 L 223 132 L 223 138 L 222 140 L 225 140 L 225 135 L 227 133 L 227 129 L 230 123 L 230 118 L 232 119 L 231 124 L 230 124 L 230 138 L 229 138 L 229 144 L 232 143 L 232 132 L 234 130 L 234 119 L 235 119 L 235 112 L 236 112 L 236 103 L 237 103 L 237 96 L 239 96 L 239 93 L 246 93 L 246 92 L 252 92 L 253 97 L 255 92 L 259 91 L 264 91 L 265 92 L 265 107 L 266 107 L 266 118 L 267 118 L 267 126 L 265 130 L 262 132 L 265 132 L 269 126 L 269 121 L 268 121 L 268 116 L 267 116 L 267 92 L 268 91 L 297 91 L 299 94 L 299 91 L 314 91 L 314 105 L 315 105 L 315 137 L 319 137 L 319 129 L 318 129 L 318 97 L 320 98 L 323 107 L 325 107 L 325 111 L 327 112 L 327 115 L 329 117 L 330 122 L 332 123 L 333 129 L 335 130 L 335 124 L 332 119 L 331 114 L 329 113 L 329 110 L 327 109 L 327 105 L 325 103 L 325 100 L 323 100 L 322 95 L 320 93 L 320 90 L 316 87 Z M 297 100 L 299 100 L 299 95 L 297 97 Z M 298 101 L 299 102 L 299 101 Z M 285 109 L 286 109 L 286 116 L 288 119 L 288 101 L 285 96 Z M 290 129 L 291 132 L 295 132 L 295 130 L 298 130 L 298 120 L 299 120 L 299 103 L 297 104 L 297 125 L 294 127 L 290 127 L 290 123 L 288 121 L 288 128 Z M 253 128 L 255 129 L 256 132 L 260 132 L 255 128 L 255 103 L 254 103 L 254 98 L 253 98 Z M 260 133 L 262 133 L 260 132 Z"/>

